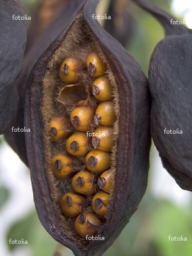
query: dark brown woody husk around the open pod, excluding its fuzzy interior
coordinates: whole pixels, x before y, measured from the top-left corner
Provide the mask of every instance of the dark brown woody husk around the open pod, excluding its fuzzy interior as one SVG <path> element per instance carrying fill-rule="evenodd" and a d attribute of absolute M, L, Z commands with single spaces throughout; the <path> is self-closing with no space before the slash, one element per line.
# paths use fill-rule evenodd
<path fill-rule="evenodd" d="M 70 248 L 75 255 L 102 255 L 115 241 L 122 228 L 136 211 L 145 193 L 150 149 L 150 95 L 147 78 L 140 66 L 114 38 L 92 19 L 98 1 L 84 1 L 70 20 L 70 25 L 50 45 L 36 62 L 28 80 L 26 92 L 25 125 L 31 132 L 26 134 L 26 148 L 33 185 L 36 211 L 42 225 L 56 241 Z M 70 33 L 73 20 L 83 10 L 83 17 L 92 36 L 107 56 L 118 84 L 120 94 L 120 134 L 115 179 L 113 209 L 107 224 L 102 227 L 102 241 L 93 241 L 84 250 L 65 236 L 65 227 L 60 227 L 51 200 L 51 186 L 45 177 L 44 124 L 40 112 L 43 97 L 42 79 L 52 54 L 58 49 L 65 36 Z"/>

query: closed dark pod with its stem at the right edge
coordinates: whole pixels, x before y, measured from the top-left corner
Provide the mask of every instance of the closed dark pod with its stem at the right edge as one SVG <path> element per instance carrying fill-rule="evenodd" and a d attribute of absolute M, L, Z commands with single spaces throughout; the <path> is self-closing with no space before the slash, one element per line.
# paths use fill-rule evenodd
<path fill-rule="evenodd" d="M 152 138 L 164 168 L 180 188 L 192 191 L 192 31 L 156 6 L 134 2 L 152 13 L 166 31 L 149 65 Z"/>

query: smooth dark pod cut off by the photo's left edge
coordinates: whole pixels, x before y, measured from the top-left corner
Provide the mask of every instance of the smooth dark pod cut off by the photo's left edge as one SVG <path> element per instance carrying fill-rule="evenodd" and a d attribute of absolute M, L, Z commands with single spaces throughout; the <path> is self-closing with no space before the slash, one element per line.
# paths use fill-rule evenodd
<path fill-rule="evenodd" d="M 19 1 L 2 0 L 0 3 L 0 134 L 13 124 L 18 110 L 19 94 L 15 80 L 20 76 L 26 47 L 26 20 Z"/>

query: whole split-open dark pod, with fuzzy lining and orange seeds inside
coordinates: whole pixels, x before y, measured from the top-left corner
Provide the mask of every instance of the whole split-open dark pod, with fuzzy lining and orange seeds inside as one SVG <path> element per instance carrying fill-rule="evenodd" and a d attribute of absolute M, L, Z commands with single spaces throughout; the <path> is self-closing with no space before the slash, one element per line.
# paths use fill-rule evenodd
<path fill-rule="evenodd" d="M 26 92 L 36 211 L 47 232 L 75 255 L 102 255 L 147 186 L 147 79 L 92 18 L 96 7 L 93 0 L 79 7 L 36 62 Z"/>

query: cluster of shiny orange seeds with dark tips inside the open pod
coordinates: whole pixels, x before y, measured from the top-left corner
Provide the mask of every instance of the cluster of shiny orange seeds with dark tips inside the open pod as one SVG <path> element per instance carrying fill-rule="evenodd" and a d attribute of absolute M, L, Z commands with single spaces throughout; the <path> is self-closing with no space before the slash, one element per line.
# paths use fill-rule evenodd
<path fill-rule="evenodd" d="M 51 140 L 63 141 L 65 147 L 52 156 L 52 172 L 56 179 L 68 179 L 71 184 L 70 191 L 61 198 L 61 211 L 67 218 L 76 218 L 74 227 L 82 237 L 97 234 L 97 227 L 106 218 L 114 186 L 111 150 L 115 145 L 116 115 L 107 70 L 106 63 L 95 51 L 88 54 L 86 64 L 78 58 L 66 58 L 59 70 L 65 87 L 81 86 L 83 72 L 90 77 L 92 85 L 85 86 L 88 98 L 70 108 L 68 119 L 60 115 L 49 122 Z"/>

